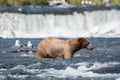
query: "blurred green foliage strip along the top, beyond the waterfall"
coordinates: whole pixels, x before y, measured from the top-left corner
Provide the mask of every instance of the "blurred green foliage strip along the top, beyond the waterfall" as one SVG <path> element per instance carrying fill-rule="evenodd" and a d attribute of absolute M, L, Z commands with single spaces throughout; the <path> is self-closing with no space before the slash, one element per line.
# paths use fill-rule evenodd
<path fill-rule="evenodd" d="M 0 0 L 0 6 L 21 6 L 21 5 L 49 5 L 51 0 Z M 101 4 L 103 0 L 66 0 L 72 5 L 81 5 L 82 1 L 91 1 L 92 4 Z M 109 0 L 110 4 L 120 4 L 120 0 Z"/>

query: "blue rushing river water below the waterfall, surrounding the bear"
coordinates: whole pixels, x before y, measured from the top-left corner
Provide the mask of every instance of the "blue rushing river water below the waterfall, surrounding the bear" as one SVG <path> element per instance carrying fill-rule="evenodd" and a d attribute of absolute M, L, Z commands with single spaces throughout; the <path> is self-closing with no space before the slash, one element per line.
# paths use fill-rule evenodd
<path fill-rule="evenodd" d="M 33 52 L 26 47 L 14 52 L 16 39 L 0 39 L 0 80 L 119 80 L 120 38 L 89 38 L 95 49 L 80 50 L 69 60 L 35 57 L 36 46 L 42 39 L 31 41 Z"/>

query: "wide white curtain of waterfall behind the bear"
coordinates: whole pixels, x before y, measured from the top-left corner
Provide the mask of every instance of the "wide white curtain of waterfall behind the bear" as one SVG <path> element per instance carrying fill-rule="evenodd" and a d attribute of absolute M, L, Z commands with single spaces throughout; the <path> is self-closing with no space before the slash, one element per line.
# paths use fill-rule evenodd
<path fill-rule="evenodd" d="M 0 37 L 120 37 L 120 11 L 73 14 L 0 13 Z"/>

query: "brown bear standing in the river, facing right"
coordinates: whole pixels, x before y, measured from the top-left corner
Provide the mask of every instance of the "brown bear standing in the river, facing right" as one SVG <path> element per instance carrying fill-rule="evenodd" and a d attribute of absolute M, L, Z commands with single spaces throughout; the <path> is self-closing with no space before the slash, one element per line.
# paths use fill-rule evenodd
<path fill-rule="evenodd" d="M 83 48 L 88 50 L 93 49 L 93 46 L 89 44 L 86 38 L 61 40 L 54 37 L 48 37 L 38 44 L 36 57 L 38 59 L 70 59 L 76 51 Z"/>

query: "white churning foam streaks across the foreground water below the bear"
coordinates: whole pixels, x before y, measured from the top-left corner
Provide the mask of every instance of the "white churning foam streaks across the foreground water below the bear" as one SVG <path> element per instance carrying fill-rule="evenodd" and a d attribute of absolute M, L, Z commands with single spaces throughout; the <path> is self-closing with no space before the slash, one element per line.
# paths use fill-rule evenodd
<path fill-rule="evenodd" d="M 91 69 L 99 69 L 103 67 L 111 67 L 115 65 L 119 65 L 119 62 L 108 62 L 108 63 L 99 63 L 95 62 L 93 65 L 90 65 L 89 63 L 83 62 L 83 63 L 77 63 L 77 64 L 72 64 L 78 66 L 77 68 L 73 68 L 71 66 L 66 67 L 65 69 L 31 69 L 30 67 L 34 66 L 41 66 L 41 63 L 35 63 L 31 64 L 29 66 L 24 66 L 24 65 L 18 65 L 11 70 L 23 70 L 24 72 L 30 73 L 31 75 L 36 74 L 36 77 L 56 77 L 56 78 L 66 78 L 66 77 L 102 77 L 102 78 L 116 78 L 119 80 L 120 73 L 106 73 L 106 74 L 99 74 L 99 73 L 94 73 L 91 71 Z M 30 69 L 29 69 L 30 68 Z M 14 78 L 26 78 L 28 75 L 9 75 L 10 77 Z"/>

